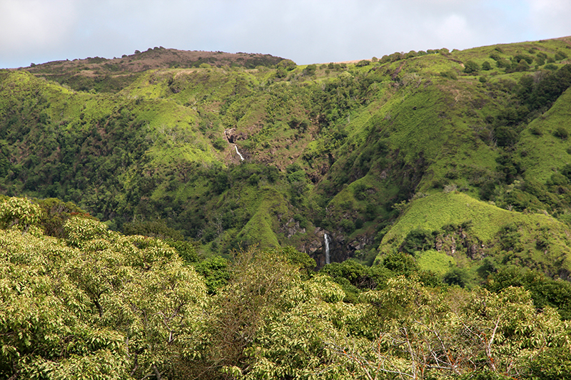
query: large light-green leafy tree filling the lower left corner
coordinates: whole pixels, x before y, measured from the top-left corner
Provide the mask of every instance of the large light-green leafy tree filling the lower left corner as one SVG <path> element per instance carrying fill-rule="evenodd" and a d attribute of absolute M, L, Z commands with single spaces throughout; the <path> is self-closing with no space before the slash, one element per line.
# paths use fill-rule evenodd
<path fill-rule="evenodd" d="M 200 323 L 201 277 L 160 240 L 95 220 L 66 222 L 66 241 L 46 237 L 38 210 L 0 207 L 20 221 L 0 232 L 0 377 L 171 378 Z"/>

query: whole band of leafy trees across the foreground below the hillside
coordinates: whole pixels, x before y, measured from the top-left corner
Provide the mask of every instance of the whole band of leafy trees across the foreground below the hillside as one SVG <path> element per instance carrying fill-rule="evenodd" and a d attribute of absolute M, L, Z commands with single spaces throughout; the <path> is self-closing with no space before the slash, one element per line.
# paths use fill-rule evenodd
<path fill-rule="evenodd" d="M 568 282 L 505 270 L 430 281 L 403 252 L 320 273 L 293 247 L 186 265 L 163 240 L 0 204 L 5 379 L 565 378 Z M 158 225 L 146 227 L 163 230 Z M 403 349 L 405 347 L 405 349 Z"/>

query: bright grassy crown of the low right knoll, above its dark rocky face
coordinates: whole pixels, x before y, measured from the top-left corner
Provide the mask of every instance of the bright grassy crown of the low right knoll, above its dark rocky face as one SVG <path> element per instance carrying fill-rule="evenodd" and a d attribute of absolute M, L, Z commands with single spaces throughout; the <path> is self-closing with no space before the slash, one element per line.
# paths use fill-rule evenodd
<path fill-rule="evenodd" d="M 503 260 L 502 264 L 523 264 L 550 273 L 571 269 L 571 228 L 568 225 L 549 215 L 504 210 L 461 192 L 441 192 L 410 202 L 383 238 L 379 250 L 388 252 L 398 248 L 408 232 L 418 228 L 435 231 L 464 222 L 469 222 L 470 235 L 486 247 L 487 255 L 503 255 L 497 257 L 498 262 Z M 502 229 L 512 225 L 517 227 L 521 246 L 516 252 L 502 252 Z M 537 238 L 546 233 L 549 248 L 540 249 Z"/>

